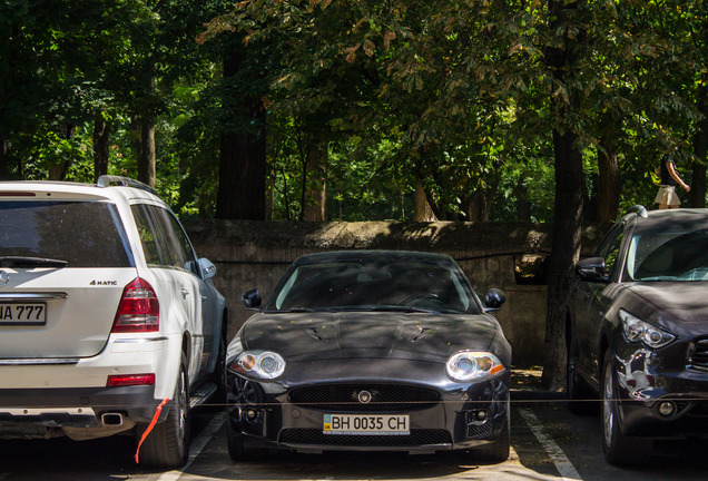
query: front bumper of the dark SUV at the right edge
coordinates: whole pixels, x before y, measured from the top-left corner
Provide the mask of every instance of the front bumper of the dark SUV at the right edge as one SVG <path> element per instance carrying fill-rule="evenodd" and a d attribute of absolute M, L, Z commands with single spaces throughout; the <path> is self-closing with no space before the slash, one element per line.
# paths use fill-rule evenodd
<path fill-rule="evenodd" d="M 613 371 L 623 434 L 708 436 L 707 371 L 670 365 L 657 352 L 631 345 L 617 350 Z"/>

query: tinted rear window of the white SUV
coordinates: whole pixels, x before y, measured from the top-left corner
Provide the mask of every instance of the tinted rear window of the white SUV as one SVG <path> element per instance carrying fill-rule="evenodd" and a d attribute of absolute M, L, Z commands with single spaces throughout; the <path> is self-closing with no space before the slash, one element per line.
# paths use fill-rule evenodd
<path fill-rule="evenodd" d="M 116 206 L 99 202 L 0 202 L 0 257 L 17 266 L 135 266 Z"/>

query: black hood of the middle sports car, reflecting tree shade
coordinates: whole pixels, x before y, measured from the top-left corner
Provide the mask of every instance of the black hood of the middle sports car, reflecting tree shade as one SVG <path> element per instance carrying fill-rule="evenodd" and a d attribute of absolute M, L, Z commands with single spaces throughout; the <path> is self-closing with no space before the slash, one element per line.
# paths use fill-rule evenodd
<path fill-rule="evenodd" d="M 495 320 L 471 314 L 387 312 L 257 314 L 242 328 L 245 350 L 291 361 L 392 357 L 445 362 L 461 351 L 488 351 Z"/>

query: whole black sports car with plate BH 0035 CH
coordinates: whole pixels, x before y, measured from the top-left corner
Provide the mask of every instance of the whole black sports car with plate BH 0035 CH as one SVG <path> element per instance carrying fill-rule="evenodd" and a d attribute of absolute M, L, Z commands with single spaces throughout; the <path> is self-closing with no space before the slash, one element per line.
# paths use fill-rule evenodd
<path fill-rule="evenodd" d="M 352 251 L 287 269 L 228 346 L 228 451 L 509 455 L 511 347 L 449 256 Z M 244 293 L 260 306 L 256 289 Z"/>

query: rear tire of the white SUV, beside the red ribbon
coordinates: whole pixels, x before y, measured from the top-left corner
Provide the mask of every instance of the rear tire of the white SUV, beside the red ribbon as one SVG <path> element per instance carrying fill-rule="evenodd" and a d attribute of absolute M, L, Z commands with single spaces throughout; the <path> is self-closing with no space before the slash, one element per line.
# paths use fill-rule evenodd
<path fill-rule="evenodd" d="M 154 468 L 179 468 L 189 459 L 189 380 L 183 353 L 174 403 L 167 419 L 156 424 L 140 446 L 140 463 Z M 138 441 L 147 426 L 137 430 Z"/>

